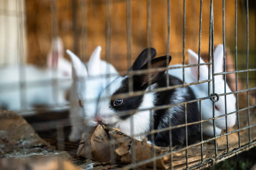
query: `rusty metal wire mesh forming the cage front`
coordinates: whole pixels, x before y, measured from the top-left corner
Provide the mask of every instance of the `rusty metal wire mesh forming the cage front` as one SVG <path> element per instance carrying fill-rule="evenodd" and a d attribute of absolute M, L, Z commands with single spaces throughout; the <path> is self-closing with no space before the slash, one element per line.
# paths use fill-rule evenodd
<path fill-rule="evenodd" d="M 81 5 L 81 18 L 82 18 L 82 60 L 85 61 L 86 60 L 86 52 L 87 52 L 87 38 L 88 38 L 88 30 L 87 30 L 87 1 L 86 0 L 81 0 L 80 1 L 80 5 Z M 19 4 L 20 1 L 17 1 L 17 4 Z M 107 0 L 105 5 L 106 5 L 106 14 L 107 14 L 107 21 L 106 21 L 106 49 L 105 49 L 105 53 L 106 53 L 106 61 L 110 62 L 111 60 L 111 38 L 112 38 L 112 19 L 111 19 L 111 4 L 113 3 L 113 1 L 111 0 Z M 131 5 L 132 1 L 131 0 L 127 0 L 126 1 L 126 36 L 127 36 L 127 67 L 130 68 L 132 65 L 132 5 Z M 186 168 L 187 169 L 198 169 L 198 168 L 202 168 L 202 167 L 207 167 L 207 166 L 211 166 L 214 165 L 220 161 L 223 161 L 224 159 L 227 159 L 237 153 L 240 153 L 244 150 L 250 149 L 251 147 L 256 145 L 256 141 L 252 141 L 252 136 L 251 136 L 251 128 L 256 127 L 256 124 L 252 124 L 250 123 L 250 109 L 255 108 L 256 105 L 252 105 L 250 106 L 249 104 L 249 92 L 256 90 L 256 87 L 251 87 L 249 88 L 249 72 L 255 72 L 256 68 L 249 68 L 249 3 L 248 0 L 246 0 L 246 69 L 244 70 L 238 70 L 238 61 L 237 61 L 237 0 L 235 0 L 235 71 L 228 71 L 226 69 L 226 46 L 225 46 L 225 0 L 222 1 L 222 38 L 223 38 L 223 51 L 224 51 L 224 58 L 223 58 L 223 62 L 224 62 L 224 71 L 223 72 L 218 72 L 215 73 L 214 70 L 214 65 L 215 63 L 215 58 L 214 58 L 214 9 L 213 9 L 213 0 L 210 1 L 210 10 L 209 10 L 209 14 L 210 14 L 210 18 L 209 18 L 209 51 L 208 51 L 208 62 L 206 63 L 200 63 L 200 57 L 201 57 L 201 38 L 202 38 L 202 5 L 203 5 L 203 1 L 200 0 L 200 18 L 199 18 L 199 44 L 198 44 L 198 63 L 197 64 L 185 64 L 185 51 L 186 51 L 186 0 L 183 0 L 183 40 L 182 40 L 182 65 L 180 66 L 168 66 L 168 64 L 166 65 L 166 67 L 162 67 L 162 68 L 151 68 L 151 61 L 150 61 L 150 51 L 148 52 L 148 67 L 149 69 L 147 70 L 136 70 L 136 71 L 129 71 L 129 72 L 121 72 L 120 75 L 121 76 L 130 76 L 129 78 L 129 91 L 128 93 L 122 93 L 122 94 L 118 94 L 115 95 L 113 97 L 115 98 L 128 98 L 128 97 L 133 97 L 133 96 L 138 96 L 138 95 L 143 95 L 146 93 L 151 93 L 151 92 L 163 92 L 163 91 L 168 91 L 168 90 L 172 90 L 175 88 L 181 88 L 181 87 L 188 87 L 188 86 L 192 86 L 192 85 L 198 85 L 198 84 L 202 84 L 202 83 L 208 83 L 208 96 L 205 96 L 203 98 L 198 98 L 198 99 L 194 99 L 194 100 L 190 100 L 190 101 L 186 101 L 186 102 L 181 102 L 175 105 L 172 104 L 168 104 L 168 105 L 163 105 L 163 106 L 154 106 L 154 107 L 150 107 L 150 108 L 145 108 L 145 109 L 136 109 L 136 110 L 128 110 L 123 112 L 124 115 L 131 115 L 132 113 L 134 113 L 135 111 L 146 111 L 146 110 L 150 110 L 150 114 L 152 117 L 153 111 L 155 110 L 161 110 L 161 109 L 168 109 L 170 107 L 173 106 L 184 106 L 184 112 L 185 112 L 185 124 L 182 125 L 176 125 L 176 126 L 171 126 L 170 121 L 169 121 L 169 127 L 168 128 L 162 128 L 162 129 L 151 129 L 149 132 L 146 133 L 140 133 L 140 134 L 135 134 L 135 130 L 134 128 L 131 129 L 131 137 L 137 137 L 140 135 L 151 135 L 151 139 L 153 140 L 152 143 L 154 144 L 154 134 L 158 133 L 158 132 L 163 132 L 163 131 L 169 131 L 169 139 L 170 139 L 170 146 L 169 149 L 170 151 L 168 153 L 165 153 L 163 155 L 159 155 L 156 156 L 155 155 L 155 150 L 154 147 L 152 146 L 152 155 L 153 157 L 148 159 L 148 160 L 144 160 L 144 161 L 136 161 L 136 149 L 134 147 L 134 145 L 131 145 L 131 164 L 125 165 L 123 166 L 123 168 L 127 168 L 127 169 L 135 169 L 138 166 L 147 164 L 149 162 L 153 162 L 153 169 L 156 169 L 156 160 L 158 160 L 159 158 L 162 158 L 164 156 L 170 156 L 170 163 L 171 163 L 171 169 L 173 169 L 173 154 L 178 153 L 180 151 L 185 151 L 185 158 L 186 158 Z M 77 12 L 76 12 L 76 8 L 77 7 L 77 3 L 73 3 L 73 32 L 74 32 L 74 52 L 78 53 L 79 49 L 78 49 L 78 28 L 77 28 Z M 151 46 L 151 0 L 147 0 L 147 5 L 146 5 L 146 11 L 147 11 L 147 29 L 146 29 L 146 38 L 147 38 L 147 47 Z M 166 44 L 166 55 L 169 56 L 170 55 L 170 31 L 171 31 L 171 5 L 170 5 L 170 0 L 167 0 L 167 44 Z M 19 20 L 22 20 L 22 13 L 17 13 L 19 14 L 17 17 L 19 17 Z M 57 17 L 57 0 L 51 0 L 51 19 L 52 19 L 52 38 L 56 38 L 58 35 L 58 17 Z M 22 22 L 20 22 L 18 20 L 18 24 L 22 24 Z M 18 32 L 22 32 L 22 30 L 20 30 L 21 28 L 23 28 L 23 26 L 20 26 L 18 28 Z M 21 33 L 22 34 L 22 33 Z M 25 57 L 24 55 L 24 51 L 22 51 L 23 47 L 22 44 L 20 43 L 21 41 L 18 41 L 18 47 L 19 47 L 19 56 L 20 58 L 20 65 L 22 66 L 23 63 L 25 63 L 24 59 Z M 54 41 L 52 40 L 52 46 L 53 48 L 56 48 L 56 44 L 54 44 Z M 53 52 L 55 52 L 53 50 Z M 55 55 L 53 55 L 55 56 Z M 168 60 L 168 59 L 167 59 Z M 208 66 L 208 79 L 206 80 L 200 80 L 200 66 Z M 185 68 L 189 68 L 189 67 L 197 67 L 198 68 L 198 79 L 195 82 L 192 83 L 186 83 L 185 81 Z M 170 86 L 169 85 L 169 76 L 167 76 L 167 86 L 166 87 L 162 87 L 162 88 L 157 88 L 157 89 L 150 89 L 149 91 L 133 91 L 133 79 L 131 77 L 131 75 L 140 75 L 140 74 L 144 74 L 144 73 L 149 73 L 149 80 L 151 81 L 151 73 L 155 72 L 155 71 L 163 71 L 163 70 L 169 70 L 169 69 L 175 69 L 175 68 L 182 68 L 182 84 L 179 85 L 174 85 L 174 86 Z M 212 68 L 212 70 L 210 69 Z M 106 70 L 107 71 L 107 70 Z M 212 72 L 211 72 L 212 71 Z M 227 82 L 227 75 L 228 74 L 235 74 L 235 84 L 236 84 L 236 90 L 233 92 L 228 92 L 227 93 L 227 89 L 226 89 L 226 82 Z M 246 73 L 246 89 L 244 90 L 238 90 L 238 73 Z M 26 84 L 24 83 L 24 70 L 22 69 L 22 67 L 20 67 L 20 88 L 21 89 L 26 89 Z M 215 76 L 224 76 L 224 93 L 222 94 L 216 94 L 215 93 Z M 97 76 L 92 76 L 92 77 L 88 77 L 88 80 L 93 80 L 93 79 L 97 79 L 100 77 L 111 77 L 111 76 L 116 76 L 114 74 L 104 74 L 104 75 L 97 75 Z M 54 82 L 56 82 L 57 79 L 52 79 L 51 81 L 42 81 L 42 82 L 30 82 L 30 84 L 33 85 L 33 83 L 35 83 L 35 86 L 37 84 L 41 84 L 42 86 L 44 85 L 44 83 L 46 84 L 52 84 L 53 86 L 55 86 Z M 58 79 L 59 80 L 59 79 Z M 151 84 L 151 82 L 149 82 L 149 84 Z M 0 89 L 11 89 L 11 84 L 8 85 L 8 87 L 0 87 Z M 212 88 L 212 92 L 211 92 L 211 88 Z M 239 108 L 238 105 L 238 94 L 239 93 L 243 93 L 246 92 L 247 94 L 247 107 L 245 108 Z M 231 95 L 234 94 L 236 95 L 236 111 L 227 112 L 227 95 Z M 21 98 L 21 101 L 23 101 L 23 104 L 26 105 L 24 102 L 26 102 L 26 100 L 24 100 L 24 96 L 25 94 L 21 94 L 21 96 L 23 96 Z M 56 96 L 56 94 L 54 94 L 54 96 Z M 220 116 L 216 116 L 215 115 L 215 102 L 218 101 L 219 97 L 224 96 L 225 97 L 225 114 L 224 115 L 220 115 Z M 109 97 L 109 96 L 107 96 Z M 209 108 L 213 110 L 213 115 L 212 118 L 209 119 L 203 119 L 202 118 L 202 101 L 203 100 L 211 100 L 212 101 L 212 106 L 213 108 Z M 72 101 L 71 101 L 72 102 Z M 90 101 L 88 101 L 90 102 Z M 199 104 L 199 112 L 200 112 L 200 120 L 197 122 L 190 122 L 187 123 L 187 104 L 190 103 L 198 103 Z M 49 106 L 50 107 L 56 107 L 55 106 Z M 66 108 L 68 108 L 69 105 L 66 105 Z M 49 108 L 47 108 L 49 110 Z M 28 112 L 28 110 L 21 110 L 20 113 L 22 112 Z M 37 111 L 37 110 L 29 110 L 31 113 L 33 111 Z M 247 117 L 248 117 L 248 126 L 241 128 L 240 127 L 240 118 L 239 118 L 239 113 L 242 111 L 247 111 Z M 227 120 L 227 116 L 232 115 L 232 114 L 237 114 L 237 128 L 236 130 L 231 130 L 229 131 L 228 129 L 228 120 Z M 110 117 L 114 116 L 114 115 L 109 115 Z M 218 118 L 222 118 L 225 117 L 225 124 L 226 124 L 226 132 L 224 134 L 221 135 L 216 135 L 216 122 L 215 120 Z M 209 139 L 203 140 L 203 126 L 202 123 L 207 122 L 207 121 L 212 121 L 213 122 L 213 132 L 214 132 L 214 137 L 211 137 Z M 153 122 L 153 121 L 152 121 Z M 195 144 L 191 144 L 188 145 L 188 126 L 190 125 L 196 125 L 196 124 L 200 124 L 200 142 L 197 142 Z M 134 120 L 131 120 L 131 127 L 134 127 Z M 45 126 L 47 127 L 47 126 Z M 153 126 L 152 126 L 153 127 Z M 185 134 L 186 134 L 186 138 L 185 138 L 185 147 L 180 148 L 180 149 L 176 149 L 173 150 L 172 147 L 172 129 L 176 129 L 176 128 L 181 128 L 181 127 L 185 127 Z M 58 146 L 60 148 L 60 150 L 64 150 L 62 143 L 64 142 L 63 140 L 63 126 L 58 126 L 57 127 L 58 131 Z M 249 144 L 248 145 L 241 145 L 241 134 L 240 132 L 243 130 L 247 130 L 248 129 L 248 140 L 249 140 Z M 238 144 L 239 147 L 236 148 L 235 150 L 230 150 L 230 143 L 229 143 L 229 137 L 228 135 L 232 134 L 232 133 L 238 133 Z M 220 137 L 226 137 L 226 141 L 227 141 L 227 152 L 223 155 L 219 155 L 218 154 L 218 146 L 217 146 L 217 139 Z M 203 157 L 203 144 L 210 142 L 210 141 L 214 141 L 214 157 L 212 157 L 211 159 L 205 159 Z M 112 143 L 112 145 L 114 146 L 114 144 L 117 144 L 118 141 L 114 140 L 114 139 L 110 139 L 110 143 Z M 200 145 L 200 156 L 201 156 L 201 162 L 197 165 L 194 165 L 192 167 L 189 167 L 189 162 L 188 162 L 188 149 L 195 147 L 195 146 L 199 146 Z M 113 149 L 113 148 L 110 148 Z M 112 153 L 110 151 L 110 153 Z M 111 160 L 114 158 L 114 155 L 111 155 Z"/>

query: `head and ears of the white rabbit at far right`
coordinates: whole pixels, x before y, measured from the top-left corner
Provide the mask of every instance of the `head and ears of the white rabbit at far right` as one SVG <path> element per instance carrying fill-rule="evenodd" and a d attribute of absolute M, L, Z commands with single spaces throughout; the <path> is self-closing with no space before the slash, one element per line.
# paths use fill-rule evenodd
<path fill-rule="evenodd" d="M 198 63 L 198 55 L 193 52 L 192 50 L 188 50 L 189 53 L 189 64 L 197 64 Z M 214 72 L 219 73 L 223 72 L 223 45 L 219 44 L 215 51 L 214 51 Z M 203 59 L 200 57 L 200 63 L 205 63 Z M 210 66 L 212 67 L 212 66 Z M 194 82 L 198 80 L 198 67 L 191 67 L 191 74 L 192 78 L 194 79 Z M 212 75 L 212 69 L 210 74 Z M 212 77 L 211 77 L 212 78 Z M 227 83 L 224 82 L 224 76 L 223 75 L 217 75 L 214 76 L 215 78 L 215 93 L 217 94 L 223 94 L 225 93 L 224 86 L 226 86 L 226 93 L 231 92 L 229 86 Z M 208 66 L 207 65 L 201 65 L 200 66 L 200 81 L 202 80 L 208 80 Z M 212 91 L 212 81 L 211 83 L 211 91 L 210 94 L 213 93 Z M 201 83 L 196 85 L 198 88 L 197 91 L 194 91 L 197 98 L 201 97 L 207 97 L 208 96 L 208 82 Z M 202 110 L 205 111 L 202 114 L 203 119 L 209 119 L 213 116 L 212 111 L 212 104 L 213 102 L 210 99 L 202 100 Z M 231 113 L 236 111 L 236 98 L 234 94 L 226 95 L 226 107 L 227 107 L 227 113 Z M 207 112 L 206 112 L 207 111 Z M 215 103 L 215 116 L 220 116 L 225 114 L 225 96 L 220 96 L 218 102 Z M 227 116 L 227 123 L 228 127 L 232 127 L 236 123 L 236 114 L 231 114 Z M 216 119 L 216 126 L 225 129 L 226 128 L 226 121 L 225 117 L 221 117 Z"/>

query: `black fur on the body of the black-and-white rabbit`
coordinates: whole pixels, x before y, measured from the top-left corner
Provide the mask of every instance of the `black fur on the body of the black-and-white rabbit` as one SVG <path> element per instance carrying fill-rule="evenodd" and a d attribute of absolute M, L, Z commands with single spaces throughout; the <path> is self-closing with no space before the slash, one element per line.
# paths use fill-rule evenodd
<path fill-rule="evenodd" d="M 173 76 L 169 76 L 170 80 L 170 86 L 182 84 L 183 82 Z M 158 87 L 166 87 L 166 74 L 163 75 L 163 77 L 157 82 Z M 196 99 L 195 95 L 190 87 L 183 87 L 186 88 L 187 94 L 183 94 L 184 101 L 186 102 L 189 100 Z M 178 89 L 171 89 L 168 91 L 158 92 L 157 95 L 157 101 L 155 103 L 156 106 L 162 106 L 162 105 L 169 105 L 169 104 L 176 104 L 175 102 L 176 96 L 174 95 L 174 92 Z M 181 96 L 177 96 L 181 97 Z M 171 101 L 171 99 L 174 99 L 174 101 Z M 176 107 L 176 106 L 174 106 Z M 171 119 L 170 114 L 172 114 Z M 185 124 L 185 111 L 184 111 L 184 105 L 180 106 L 179 109 L 177 109 L 177 112 L 175 113 L 169 113 L 169 109 L 162 109 L 162 110 L 156 110 L 154 114 L 154 127 L 151 127 L 151 129 L 162 129 L 162 128 L 168 128 L 169 122 L 166 120 L 170 120 L 171 126 L 176 125 L 182 125 Z M 196 122 L 199 121 L 199 111 L 197 103 L 190 103 L 187 104 L 187 122 Z M 182 128 L 176 128 L 172 129 L 172 144 L 173 146 L 182 147 L 185 145 L 186 140 L 186 131 L 185 127 Z M 199 124 L 188 126 L 188 142 L 192 143 L 195 140 L 199 140 Z M 149 140 L 151 139 L 151 135 L 147 136 Z M 156 133 L 154 135 L 155 138 L 155 144 L 157 146 L 168 146 L 170 145 L 170 139 L 169 139 L 169 131 L 163 131 Z"/>

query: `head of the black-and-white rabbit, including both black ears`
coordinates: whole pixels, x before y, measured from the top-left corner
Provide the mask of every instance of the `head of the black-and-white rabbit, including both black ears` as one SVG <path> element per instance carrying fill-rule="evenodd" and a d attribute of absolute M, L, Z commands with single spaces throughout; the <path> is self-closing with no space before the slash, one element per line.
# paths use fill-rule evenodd
<path fill-rule="evenodd" d="M 151 58 L 155 57 L 155 49 L 151 48 Z M 148 68 L 147 59 L 148 59 L 149 49 L 145 49 L 138 56 L 133 66 L 129 70 L 144 70 Z M 169 62 L 171 57 L 169 57 Z M 154 58 L 151 60 L 151 68 L 165 67 L 167 61 L 167 56 Z M 148 90 L 149 84 L 151 81 L 151 86 L 154 86 L 164 74 L 165 70 L 155 71 L 151 73 L 151 78 L 148 78 L 149 73 L 143 73 L 140 75 L 131 76 L 133 80 L 133 91 Z M 146 109 L 154 106 L 155 95 L 154 93 L 146 93 L 144 95 L 116 98 L 116 95 L 128 93 L 129 92 L 129 76 L 119 76 L 113 82 L 111 82 L 101 93 L 99 98 L 99 103 L 97 107 L 97 113 L 102 118 L 103 124 L 116 125 L 115 127 L 125 130 L 127 127 L 124 127 L 122 123 L 128 122 L 129 119 L 134 113 L 142 113 L 143 111 L 138 111 L 140 109 Z M 132 113 L 127 113 L 127 111 L 133 110 Z M 134 118 L 134 122 L 139 121 L 138 125 L 146 129 L 147 125 L 150 125 L 150 114 L 149 111 L 144 111 L 145 114 L 142 117 L 140 114 L 139 118 Z M 123 127 L 123 128 L 122 128 Z M 141 130 L 136 129 L 136 130 Z M 128 134 L 129 130 L 126 131 Z"/>

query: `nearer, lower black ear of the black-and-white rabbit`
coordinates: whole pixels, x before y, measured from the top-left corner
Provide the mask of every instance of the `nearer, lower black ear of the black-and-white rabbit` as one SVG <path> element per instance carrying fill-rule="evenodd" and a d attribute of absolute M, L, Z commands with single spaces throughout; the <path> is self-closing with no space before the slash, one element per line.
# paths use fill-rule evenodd
<path fill-rule="evenodd" d="M 167 61 L 167 59 L 169 59 Z M 162 56 L 158 58 L 154 58 L 151 60 L 151 69 L 166 67 L 167 63 L 169 64 L 171 61 L 171 56 Z M 146 63 L 143 67 L 141 67 L 140 70 L 149 69 L 148 63 Z M 146 89 L 149 86 L 149 81 L 151 81 L 151 84 L 156 83 L 158 80 L 161 79 L 163 76 L 165 70 L 160 71 L 153 71 L 151 72 L 151 77 L 149 78 L 150 73 L 143 73 L 141 75 L 135 75 L 133 76 L 134 86 L 137 88 Z"/>

